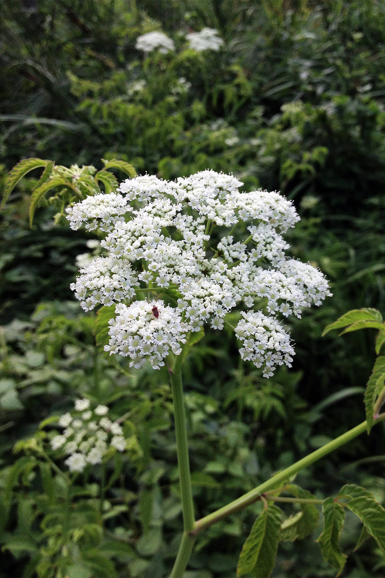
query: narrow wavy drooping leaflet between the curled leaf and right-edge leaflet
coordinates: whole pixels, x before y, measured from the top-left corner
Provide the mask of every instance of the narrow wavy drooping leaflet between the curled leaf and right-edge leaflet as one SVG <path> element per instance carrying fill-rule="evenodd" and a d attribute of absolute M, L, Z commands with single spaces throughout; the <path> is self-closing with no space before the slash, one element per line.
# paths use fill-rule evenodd
<path fill-rule="evenodd" d="M 324 531 L 317 542 L 321 547 L 323 558 L 338 570 L 337 576 L 345 566 L 346 554 L 339 547 L 339 535 L 345 521 L 345 510 L 333 498 L 326 498 L 322 505 L 324 514 Z"/>

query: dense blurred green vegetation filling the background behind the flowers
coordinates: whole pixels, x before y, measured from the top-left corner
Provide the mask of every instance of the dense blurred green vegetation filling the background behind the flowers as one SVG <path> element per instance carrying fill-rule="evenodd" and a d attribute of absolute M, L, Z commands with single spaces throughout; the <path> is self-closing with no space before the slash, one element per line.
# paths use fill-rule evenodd
<path fill-rule="evenodd" d="M 294 199 L 301 222 L 287 236 L 292 254 L 331 280 L 333 297 L 290 321 L 292 370 L 263 379 L 225 331 L 207 332 L 187 358 L 199 514 L 364 420 L 373 331 L 321 332 L 347 310 L 385 309 L 385 2 L 25 0 L 2 12 L 2 179 L 28 157 L 97 169 L 117 158 L 166 179 L 234 172 L 245 190 Z M 203 27 L 219 31 L 223 49 L 187 48 L 185 35 Z M 175 51 L 145 58 L 136 50 L 136 38 L 153 30 Z M 69 290 L 92 236 L 69 229 L 60 200 L 42 202 L 29 228 L 40 176 L 31 174 L 0 224 L 0 576 L 161 578 L 182 531 L 168 375 L 128 370 L 95 344 L 96 316 Z M 114 418 L 127 415 L 132 444 L 124 460 L 79 476 L 65 495 L 60 475 L 21 442 L 83 395 Z M 42 443 L 50 433 L 50 424 L 40 430 Z M 323 498 L 353 481 L 384 501 L 384 441 L 377 425 L 296 483 Z M 186 577 L 234 576 L 259 508 L 199 535 Z M 346 552 L 359 531 L 348 516 Z M 334 575 L 314 543 L 320 532 L 283 543 L 273 576 Z M 383 576 L 384 566 L 368 540 L 342 576 Z"/>

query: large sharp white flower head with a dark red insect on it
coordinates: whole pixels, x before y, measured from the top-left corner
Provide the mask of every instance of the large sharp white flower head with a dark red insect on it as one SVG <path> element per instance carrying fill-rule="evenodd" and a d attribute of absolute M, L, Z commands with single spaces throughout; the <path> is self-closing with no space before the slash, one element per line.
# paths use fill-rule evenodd
<path fill-rule="evenodd" d="M 159 368 L 188 332 L 204 323 L 223 329 L 238 306 L 242 357 L 266 377 L 290 365 L 293 347 L 277 316 L 299 317 L 331 294 L 318 269 L 285 255 L 282 235 L 299 220 L 293 204 L 277 192 L 240 192 L 242 184 L 214 171 L 176 181 L 145 175 L 66 209 L 73 229 L 106 235 L 109 255 L 86 264 L 71 285 L 85 310 L 116 303 L 106 351 Z M 254 312 L 257 303 L 264 313 Z"/>

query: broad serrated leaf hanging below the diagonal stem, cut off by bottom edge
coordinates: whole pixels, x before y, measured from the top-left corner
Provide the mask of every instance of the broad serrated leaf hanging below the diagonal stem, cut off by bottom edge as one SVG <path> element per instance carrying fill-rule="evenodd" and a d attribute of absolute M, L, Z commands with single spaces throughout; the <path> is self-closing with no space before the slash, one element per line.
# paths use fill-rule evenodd
<path fill-rule="evenodd" d="M 281 510 L 274 504 L 269 504 L 258 516 L 239 556 L 236 569 L 238 578 L 245 574 L 255 578 L 268 578 L 271 575 L 279 542 L 281 516 Z"/>

